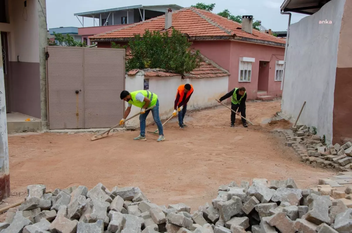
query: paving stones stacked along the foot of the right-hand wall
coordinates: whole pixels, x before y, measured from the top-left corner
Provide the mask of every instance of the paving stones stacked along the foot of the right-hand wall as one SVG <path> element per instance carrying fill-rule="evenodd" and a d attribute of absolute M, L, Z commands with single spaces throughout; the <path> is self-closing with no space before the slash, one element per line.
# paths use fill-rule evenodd
<path fill-rule="evenodd" d="M 313 135 L 306 125 L 296 125 L 290 130 L 274 130 L 286 137 L 285 145 L 301 156 L 301 161 L 338 171 L 352 171 L 352 142 L 324 145 L 322 138 Z"/>

